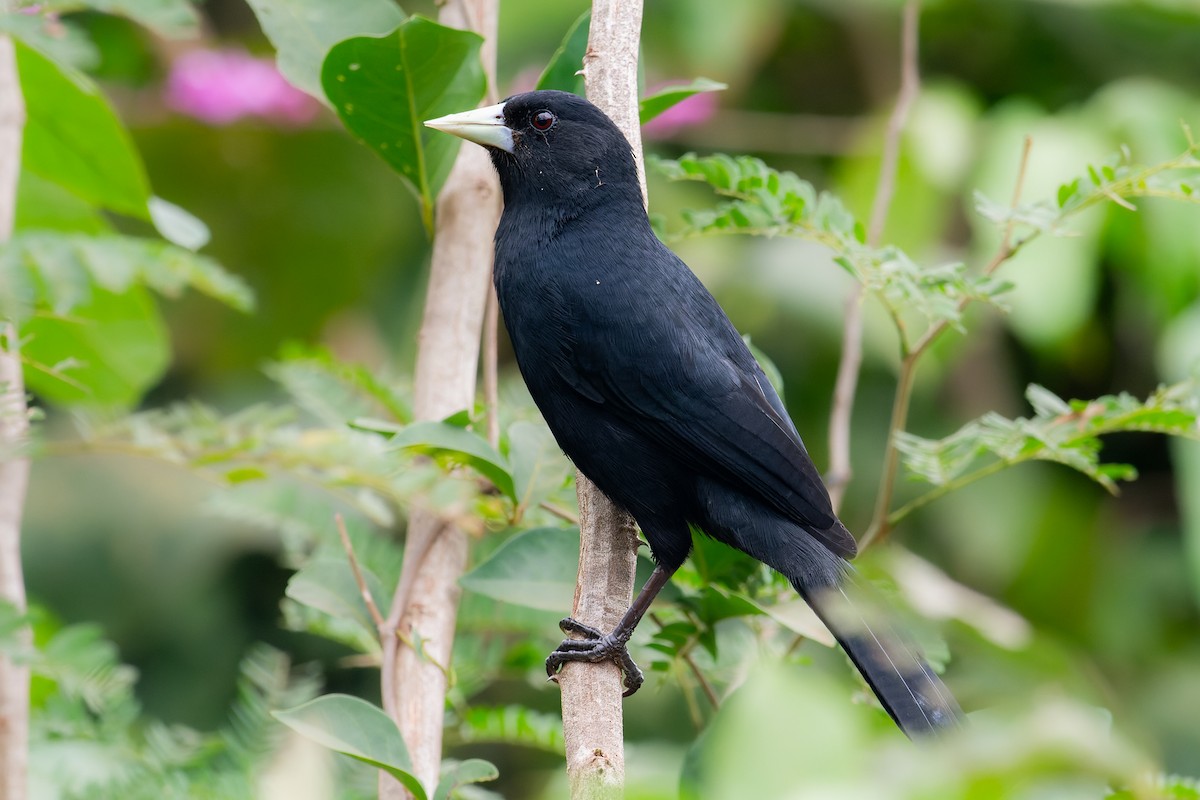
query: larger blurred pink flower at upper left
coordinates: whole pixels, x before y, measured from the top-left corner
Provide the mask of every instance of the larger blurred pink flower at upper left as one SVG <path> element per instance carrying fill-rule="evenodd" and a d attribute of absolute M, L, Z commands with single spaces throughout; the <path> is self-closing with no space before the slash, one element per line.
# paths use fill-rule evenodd
<path fill-rule="evenodd" d="M 280 74 L 269 59 L 241 50 L 190 50 L 167 76 L 168 108 L 209 125 L 245 116 L 302 125 L 320 109 L 317 101 Z"/>

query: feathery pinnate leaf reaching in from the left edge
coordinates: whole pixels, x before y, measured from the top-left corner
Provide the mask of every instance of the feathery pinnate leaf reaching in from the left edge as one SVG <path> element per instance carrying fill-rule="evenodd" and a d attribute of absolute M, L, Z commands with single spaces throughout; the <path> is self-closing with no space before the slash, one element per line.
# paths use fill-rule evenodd
<path fill-rule="evenodd" d="M 239 311 L 253 296 L 241 278 L 206 255 L 136 236 L 22 233 L 0 247 L 0 313 L 83 317 L 95 290 L 120 294 L 144 285 L 167 297 L 193 288 Z"/>

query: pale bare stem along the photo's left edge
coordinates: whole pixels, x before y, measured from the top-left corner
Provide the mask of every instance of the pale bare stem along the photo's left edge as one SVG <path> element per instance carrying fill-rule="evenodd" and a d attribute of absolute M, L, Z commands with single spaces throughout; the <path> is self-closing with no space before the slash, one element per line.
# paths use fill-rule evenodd
<path fill-rule="evenodd" d="M 0 1 L 0 13 L 11 2 Z M 25 104 L 12 40 L 0 36 L 0 242 L 12 236 L 17 211 Z M 29 408 L 14 325 L 0 319 L 0 603 L 25 610 L 20 566 L 20 521 L 29 486 Z M 17 634 L 32 637 L 28 626 Z M 0 655 L 0 800 L 25 800 L 29 792 L 29 667 Z"/>

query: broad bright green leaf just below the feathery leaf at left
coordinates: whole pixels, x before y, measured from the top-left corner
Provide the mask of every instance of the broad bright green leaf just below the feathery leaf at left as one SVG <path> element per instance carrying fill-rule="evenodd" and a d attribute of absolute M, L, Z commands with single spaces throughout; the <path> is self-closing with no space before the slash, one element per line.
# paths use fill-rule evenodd
<path fill-rule="evenodd" d="M 167 329 L 149 293 L 94 288 L 70 317 L 20 326 L 25 383 L 62 404 L 132 405 L 167 369 Z"/>

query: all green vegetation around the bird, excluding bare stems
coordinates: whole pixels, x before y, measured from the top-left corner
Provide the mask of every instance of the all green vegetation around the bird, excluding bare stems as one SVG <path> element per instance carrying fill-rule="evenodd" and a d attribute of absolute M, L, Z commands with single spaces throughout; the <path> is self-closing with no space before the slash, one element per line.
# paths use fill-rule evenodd
<path fill-rule="evenodd" d="M 650 211 L 822 465 L 862 287 L 842 516 L 972 724 L 912 747 L 786 582 L 697 537 L 631 645 L 628 796 L 1198 796 L 1200 13 L 928 4 L 880 245 L 898 7 L 827 6 L 647 8 Z M 421 121 L 484 97 L 481 41 L 390 0 L 250 7 L 0 17 L 28 109 L 0 318 L 35 417 L 0 656 L 34 674 L 30 796 L 365 798 L 377 768 L 564 796 L 542 661 L 574 473 L 503 349 L 496 409 L 414 422 L 403 377 L 457 152 Z M 502 4 L 499 96 L 578 89 L 582 11 Z M 161 37 L 198 14 L 190 46 L 270 46 L 307 96 L 180 95 Z M 473 534 L 437 787 L 378 704 L 414 509 Z"/>

